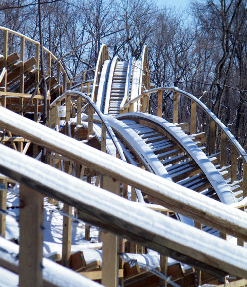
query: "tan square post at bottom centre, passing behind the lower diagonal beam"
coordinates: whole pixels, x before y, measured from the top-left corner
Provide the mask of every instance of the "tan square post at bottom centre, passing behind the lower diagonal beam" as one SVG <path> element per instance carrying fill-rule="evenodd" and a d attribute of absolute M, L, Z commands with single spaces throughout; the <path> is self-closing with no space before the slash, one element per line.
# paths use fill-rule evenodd
<path fill-rule="evenodd" d="M 103 188 L 115 194 L 119 193 L 119 182 L 108 176 L 103 178 Z M 102 281 L 106 287 L 118 286 L 119 262 L 117 252 L 119 249 L 118 237 L 110 232 L 103 231 L 102 251 Z"/>

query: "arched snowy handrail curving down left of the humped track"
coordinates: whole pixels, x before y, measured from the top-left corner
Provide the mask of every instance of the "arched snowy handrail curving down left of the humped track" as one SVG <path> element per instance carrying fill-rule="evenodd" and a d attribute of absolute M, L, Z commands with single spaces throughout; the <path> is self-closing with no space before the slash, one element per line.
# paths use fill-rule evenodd
<path fill-rule="evenodd" d="M 76 94 L 80 97 L 82 97 L 83 99 L 87 100 L 87 102 L 93 107 L 93 109 L 95 110 L 95 112 L 97 113 L 97 115 L 99 116 L 100 120 L 102 121 L 102 123 L 104 123 L 112 141 L 114 146 L 116 147 L 116 150 L 118 151 L 120 158 L 124 161 L 126 161 L 126 158 L 124 156 L 124 152 L 118 142 L 118 140 L 116 139 L 116 136 L 114 134 L 114 132 L 112 131 L 111 126 L 107 123 L 107 120 L 104 116 L 104 114 L 100 111 L 100 109 L 97 107 L 97 105 L 93 102 L 93 100 L 91 99 L 91 97 L 86 96 L 85 94 L 83 94 L 82 92 L 79 91 L 74 91 L 74 90 L 68 90 L 66 91 L 64 94 L 62 94 L 60 97 L 57 97 L 51 104 L 50 104 L 50 108 L 52 108 L 53 106 L 56 105 L 57 102 L 62 101 L 63 99 L 66 98 L 67 95 L 72 95 L 72 94 Z"/>

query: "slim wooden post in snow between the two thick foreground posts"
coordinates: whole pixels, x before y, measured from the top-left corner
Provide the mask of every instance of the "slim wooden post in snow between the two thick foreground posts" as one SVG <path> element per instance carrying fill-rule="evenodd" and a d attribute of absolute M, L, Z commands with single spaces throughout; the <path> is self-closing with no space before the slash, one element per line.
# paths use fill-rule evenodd
<path fill-rule="evenodd" d="M 72 207 L 64 204 L 63 212 L 72 215 Z M 71 255 L 71 233 L 72 233 L 72 218 L 63 216 L 63 245 L 62 245 L 62 263 L 69 267 Z"/>

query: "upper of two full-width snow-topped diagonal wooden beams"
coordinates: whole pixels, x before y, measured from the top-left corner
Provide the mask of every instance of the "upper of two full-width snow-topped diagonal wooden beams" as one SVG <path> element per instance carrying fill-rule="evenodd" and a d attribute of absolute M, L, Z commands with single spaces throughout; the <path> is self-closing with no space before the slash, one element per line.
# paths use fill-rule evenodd
<path fill-rule="evenodd" d="M 163 205 L 223 233 L 247 241 L 247 214 L 127 164 L 68 136 L 0 107 L 0 127 L 93 170 L 128 183 Z M 150 188 L 152 187 L 152 188 Z"/>

